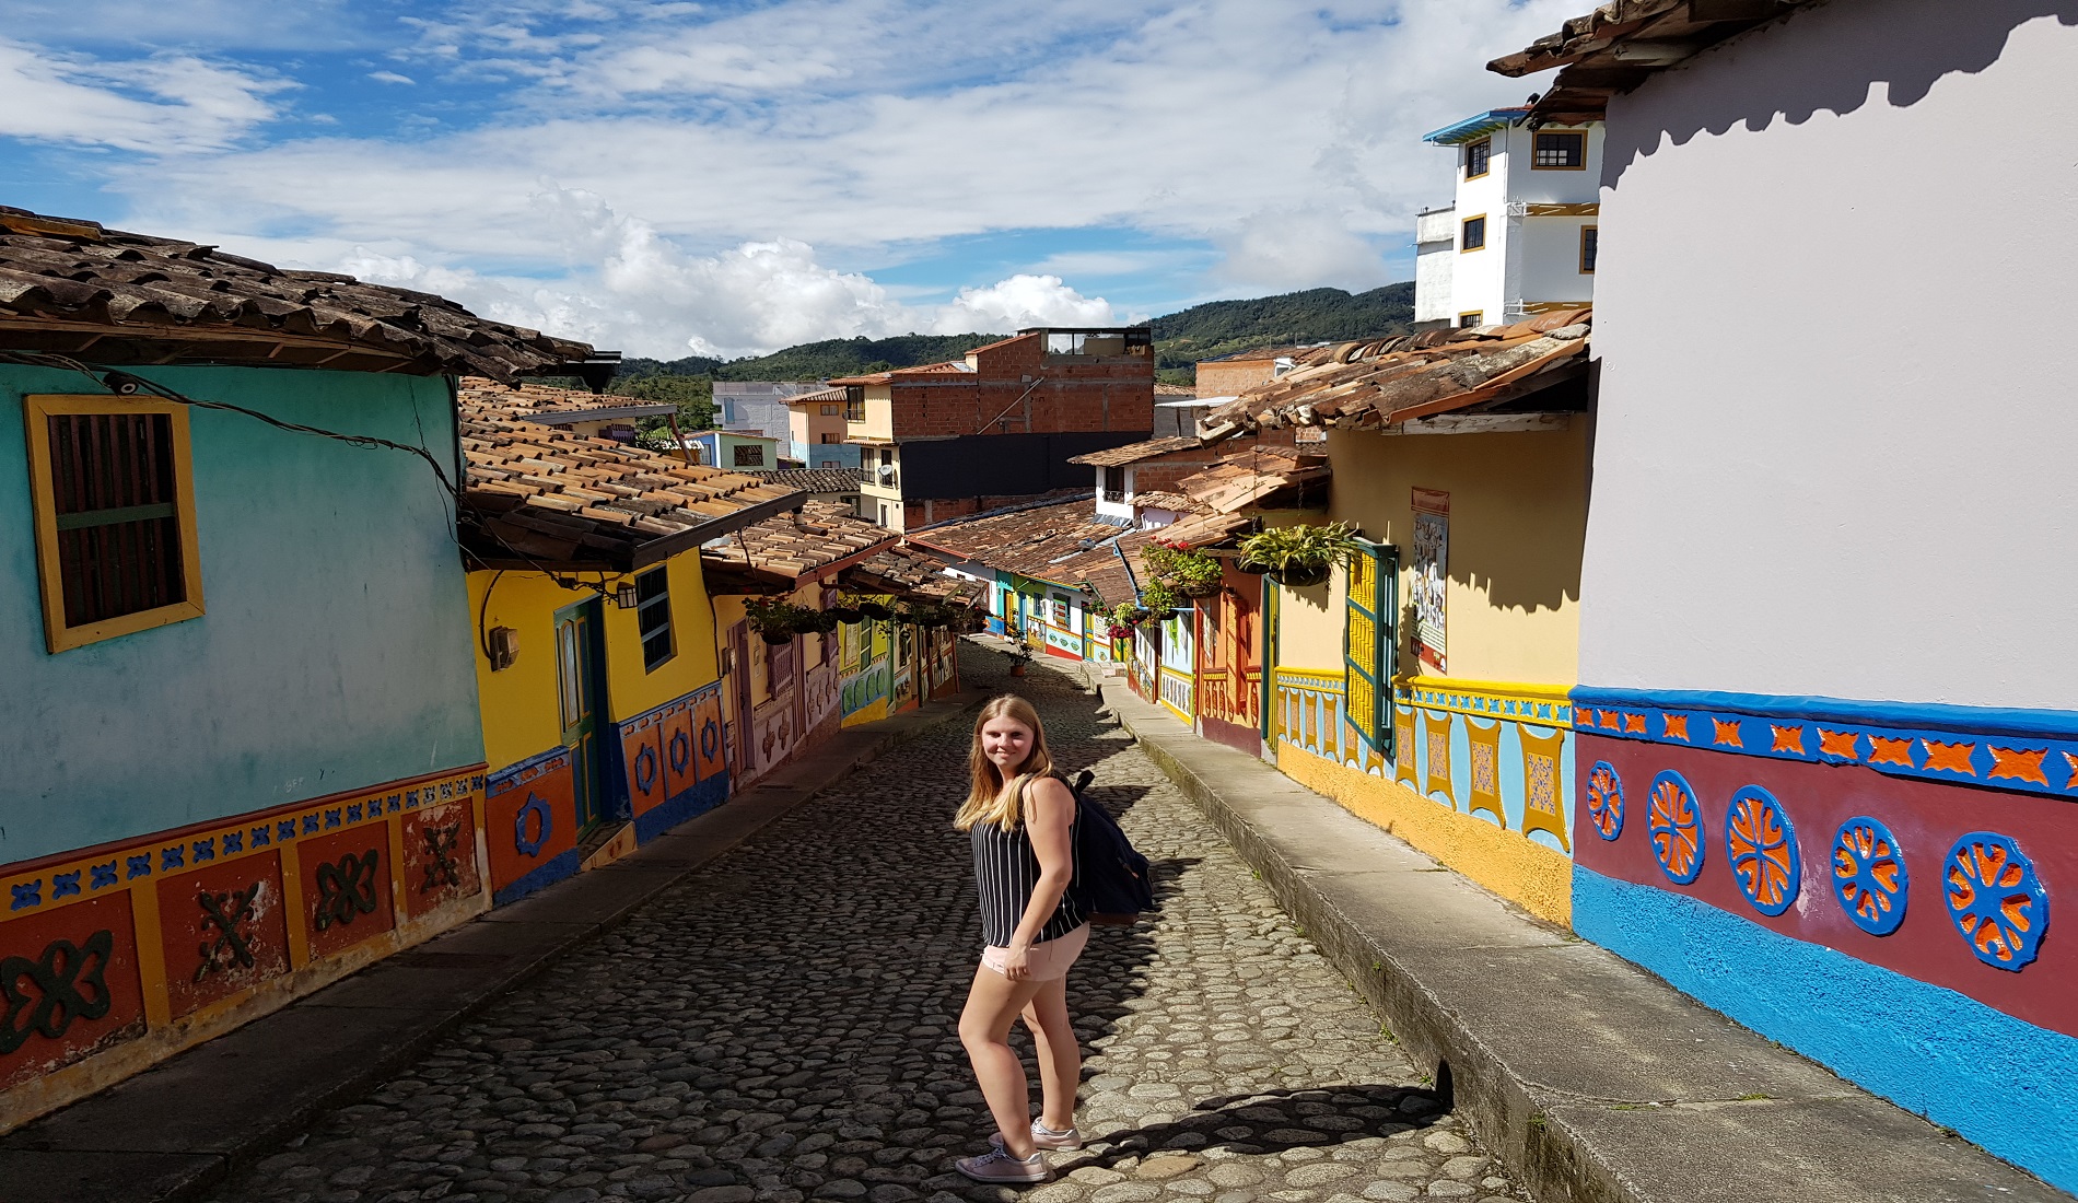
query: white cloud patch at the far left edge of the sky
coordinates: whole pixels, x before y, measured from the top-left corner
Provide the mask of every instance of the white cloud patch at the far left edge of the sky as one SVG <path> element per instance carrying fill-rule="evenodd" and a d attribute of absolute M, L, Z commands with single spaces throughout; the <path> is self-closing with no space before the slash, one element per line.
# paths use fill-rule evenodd
<path fill-rule="evenodd" d="M 0 39 L 0 135 L 139 152 L 224 150 L 274 116 L 291 87 L 170 54 L 100 60 Z"/>

